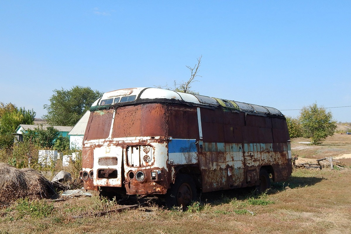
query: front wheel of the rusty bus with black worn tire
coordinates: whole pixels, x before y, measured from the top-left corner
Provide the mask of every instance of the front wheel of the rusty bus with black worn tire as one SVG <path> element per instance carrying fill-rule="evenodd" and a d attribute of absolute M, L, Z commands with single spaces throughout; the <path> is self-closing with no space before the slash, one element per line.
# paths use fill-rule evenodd
<path fill-rule="evenodd" d="M 191 201 L 196 200 L 196 186 L 190 175 L 179 174 L 176 181 L 166 193 L 166 205 L 186 208 Z"/>

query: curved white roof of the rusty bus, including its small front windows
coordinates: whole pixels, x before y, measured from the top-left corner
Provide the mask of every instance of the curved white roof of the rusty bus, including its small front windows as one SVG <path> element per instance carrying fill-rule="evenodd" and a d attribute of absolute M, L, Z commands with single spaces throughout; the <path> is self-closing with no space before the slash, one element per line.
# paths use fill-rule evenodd
<path fill-rule="evenodd" d="M 90 110 L 106 109 L 113 106 L 135 105 L 145 102 L 183 103 L 194 106 L 221 107 L 225 109 L 283 116 L 276 108 L 259 106 L 245 102 L 211 98 L 208 96 L 182 93 L 161 88 L 127 88 L 107 92 L 96 100 Z"/>

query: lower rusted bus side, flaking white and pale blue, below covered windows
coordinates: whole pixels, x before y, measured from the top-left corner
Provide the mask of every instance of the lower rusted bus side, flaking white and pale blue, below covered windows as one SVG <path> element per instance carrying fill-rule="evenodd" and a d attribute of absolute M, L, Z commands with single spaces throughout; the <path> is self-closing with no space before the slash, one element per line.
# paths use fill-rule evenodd
<path fill-rule="evenodd" d="M 257 185 L 261 166 L 272 166 L 280 181 L 291 174 L 290 163 L 282 143 L 204 143 L 199 155 L 203 192 Z"/>

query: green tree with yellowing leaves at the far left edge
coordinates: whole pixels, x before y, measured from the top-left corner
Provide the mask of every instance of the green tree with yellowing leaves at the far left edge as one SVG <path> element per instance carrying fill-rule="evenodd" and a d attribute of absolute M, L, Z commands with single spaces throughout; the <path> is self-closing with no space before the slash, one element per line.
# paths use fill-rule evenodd
<path fill-rule="evenodd" d="M 33 124 L 36 113 L 25 108 L 17 108 L 12 103 L 0 103 L 0 148 L 12 146 L 13 133 L 20 124 Z"/>

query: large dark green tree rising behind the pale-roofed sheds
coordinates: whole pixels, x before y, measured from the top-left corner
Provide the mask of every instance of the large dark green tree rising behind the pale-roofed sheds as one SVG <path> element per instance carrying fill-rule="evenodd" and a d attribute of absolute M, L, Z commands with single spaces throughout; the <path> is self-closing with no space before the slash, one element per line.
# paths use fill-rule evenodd
<path fill-rule="evenodd" d="M 74 86 L 69 90 L 55 89 L 49 99 L 50 104 L 44 105 L 47 114 L 43 116 L 49 124 L 74 126 L 88 111 L 92 103 L 103 93 L 90 87 Z"/>

